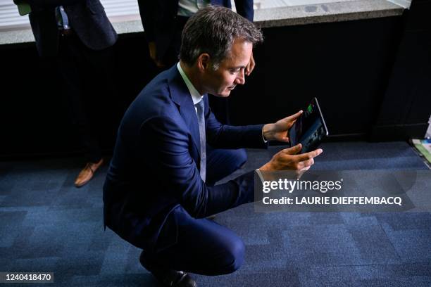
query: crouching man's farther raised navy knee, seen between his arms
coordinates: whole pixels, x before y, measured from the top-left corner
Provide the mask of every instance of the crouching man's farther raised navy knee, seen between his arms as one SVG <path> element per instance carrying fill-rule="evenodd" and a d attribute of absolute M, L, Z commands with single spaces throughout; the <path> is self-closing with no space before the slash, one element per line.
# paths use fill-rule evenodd
<path fill-rule="evenodd" d="M 206 184 L 214 185 L 215 182 L 238 170 L 246 161 L 247 154 L 244 148 L 221 149 L 206 145 Z"/>

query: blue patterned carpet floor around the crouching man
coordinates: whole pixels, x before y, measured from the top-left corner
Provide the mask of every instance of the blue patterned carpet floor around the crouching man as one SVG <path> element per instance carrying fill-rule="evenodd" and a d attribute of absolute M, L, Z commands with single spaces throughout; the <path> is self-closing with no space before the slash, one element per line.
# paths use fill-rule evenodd
<path fill-rule="evenodd" d="M 280 149 L 249 150 L 232 177 Z M 427 169 L 404 142 L 323 149 L 314 170 Z M 107 167 L 75 189 L 80 168 L 70 158 L 0 162 L 0 272 L 54 272 L 49 286 L 160 286 L 140 266 L 137 248 L 103 230 Z M 198 286 L 431 286 L 430 213 L 262 214 L 249 204 L 215 221 L 243 238 L 246 259 L 234 274 L 194 274 Z"/>

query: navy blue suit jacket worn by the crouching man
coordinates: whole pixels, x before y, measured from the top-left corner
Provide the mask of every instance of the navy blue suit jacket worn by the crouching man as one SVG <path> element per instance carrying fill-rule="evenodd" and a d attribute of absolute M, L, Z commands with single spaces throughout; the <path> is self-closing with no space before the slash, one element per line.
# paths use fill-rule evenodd
<path fill-rule="evenodd" d="M 266 148 L 262 125 L 221 125 L 207 96 L 204 104 L 206 139 L 213 148 Z M 105 226 L 139 248 L 160 250 L 176 241 L 175 217 L 168 215 L 178 205 L 199 218 L 254 199 L 253 172 L 206 186 L 199 150 L 192 97 L 174 65 L 141 91 L 123 117 L 104 184 Z M 162 227 L 168 227 L 163 242 Z"/>

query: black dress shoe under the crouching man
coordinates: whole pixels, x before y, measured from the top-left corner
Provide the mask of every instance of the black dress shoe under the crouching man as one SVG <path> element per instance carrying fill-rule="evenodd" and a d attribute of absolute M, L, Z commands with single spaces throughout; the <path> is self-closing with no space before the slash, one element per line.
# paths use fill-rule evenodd
<path fill-rule="evenodd" d="M 139 256 L 139 262 L 141 265 L 151 272 L 156 279 L 163 284 L 163 286 L 169 287 L 196 287 L 196 282 L 186 272 L 176 271 L 172 269 L 165 269 L 160 267 L 149 266 L 144 260 L 143 252 Z"/>

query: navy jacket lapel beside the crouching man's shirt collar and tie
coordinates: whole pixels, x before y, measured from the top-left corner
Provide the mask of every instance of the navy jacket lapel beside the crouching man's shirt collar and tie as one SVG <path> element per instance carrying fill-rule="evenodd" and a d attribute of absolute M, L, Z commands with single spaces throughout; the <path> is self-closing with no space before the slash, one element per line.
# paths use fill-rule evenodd
<path fill-rule="evenodd" d="M 196 110 L 194 110 L 194 104 L 192 96 L 190 95 L 189 89 L 182 79 L 180 72 L 175 64 L 173 68 L 170 68 L 171 77 L 169 82 L 170 96 L 174 103 L 179 106 L 180 114 L 185 122 L 185 125 L 192 134 L 194 146 L 201 154 L 201 142 L 199 139 L 199 125 L 197 122 Z M 198 161 L 199 162 L 199 161 Z"/>

